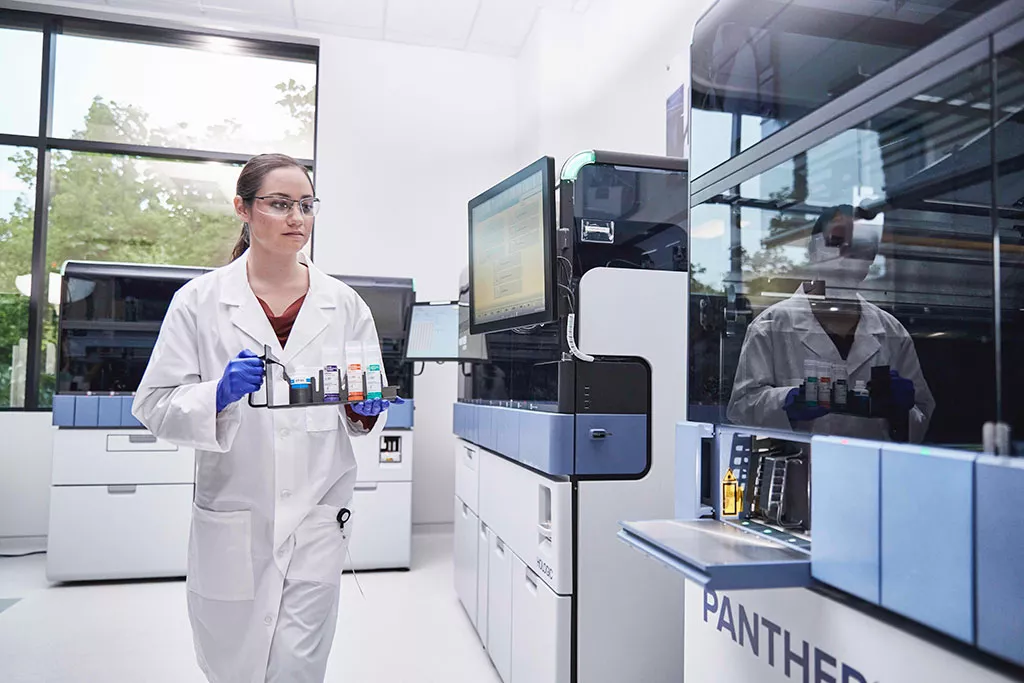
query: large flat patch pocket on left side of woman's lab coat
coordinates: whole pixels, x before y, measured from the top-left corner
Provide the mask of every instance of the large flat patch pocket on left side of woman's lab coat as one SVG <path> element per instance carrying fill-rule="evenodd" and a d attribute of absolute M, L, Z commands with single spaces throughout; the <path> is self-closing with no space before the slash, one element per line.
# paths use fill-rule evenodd
<path fill-rule="evenodd" d="M 214 512 L 193 505 L 188 537 L 189 591 L 210 600 L 252 600 L 252 513 Z"/>

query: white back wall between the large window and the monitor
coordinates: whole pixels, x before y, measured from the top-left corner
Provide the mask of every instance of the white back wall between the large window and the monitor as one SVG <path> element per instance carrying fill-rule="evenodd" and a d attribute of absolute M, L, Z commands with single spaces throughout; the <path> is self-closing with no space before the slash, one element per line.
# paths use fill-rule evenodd
<path fill-rule="evenodd" d="M 466 203 L 515 166 L 513 59 L 345 38 L 321 43 L 316 264 L 458 298 Z M 416 380 L 414 523 L 450 523 L 457 368 Z"/>

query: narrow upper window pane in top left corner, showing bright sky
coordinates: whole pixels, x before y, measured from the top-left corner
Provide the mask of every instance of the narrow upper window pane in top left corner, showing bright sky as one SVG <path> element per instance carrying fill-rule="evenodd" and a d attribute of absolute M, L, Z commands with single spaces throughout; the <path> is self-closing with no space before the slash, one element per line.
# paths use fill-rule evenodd
<path fill-rule="evenodd" d="M 39 89 L 42 87 L 43 72 L 42 32 L 0 29 L 0 65 L 5 67 L 0 133 L 38 135 Z M 17 65 L 17 68 L 7 68 L 10 65 Z"/>

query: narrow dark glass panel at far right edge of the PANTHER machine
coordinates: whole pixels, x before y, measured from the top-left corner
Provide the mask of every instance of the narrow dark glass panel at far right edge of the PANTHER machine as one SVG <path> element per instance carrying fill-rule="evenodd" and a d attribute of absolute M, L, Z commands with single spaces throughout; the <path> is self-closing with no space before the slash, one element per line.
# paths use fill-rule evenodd
<path fill-rule="evenodd" d="M 998 125 L 998 227 L 1001 243 L 1002 377 L 1001 420 L 1015 438 L 1024 434 L 1024 364 L 1018 349 L 1024 340 L 1024 44 L 996 62 Z"/>

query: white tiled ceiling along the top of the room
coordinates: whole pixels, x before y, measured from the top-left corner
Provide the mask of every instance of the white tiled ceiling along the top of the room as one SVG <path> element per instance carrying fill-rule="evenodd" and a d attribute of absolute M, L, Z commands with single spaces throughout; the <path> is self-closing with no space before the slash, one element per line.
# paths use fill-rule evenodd
<path fill-rule="evenodd" d="M 544 7 L 585 12 L 591 0 L 50 0 L 230 28 L 386 40 L 518 56 Z"/>

